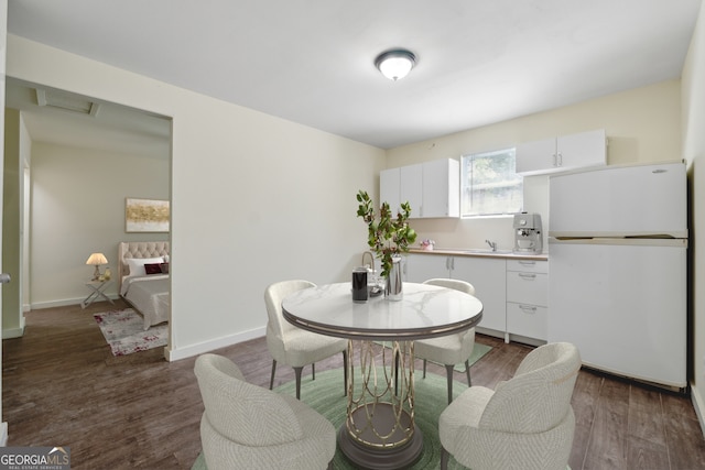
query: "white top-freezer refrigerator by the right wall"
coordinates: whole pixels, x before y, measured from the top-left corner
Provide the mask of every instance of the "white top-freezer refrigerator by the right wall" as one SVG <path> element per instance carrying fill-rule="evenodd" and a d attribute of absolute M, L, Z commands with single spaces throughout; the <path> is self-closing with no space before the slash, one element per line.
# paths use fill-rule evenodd
<path fill-rule="evenodd" d="M 687 182 L 683 162 L 549 179 L 547 340 L 584 365 L 687 385 Z"/>

